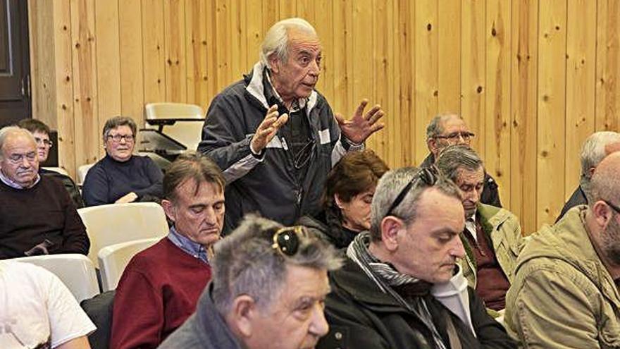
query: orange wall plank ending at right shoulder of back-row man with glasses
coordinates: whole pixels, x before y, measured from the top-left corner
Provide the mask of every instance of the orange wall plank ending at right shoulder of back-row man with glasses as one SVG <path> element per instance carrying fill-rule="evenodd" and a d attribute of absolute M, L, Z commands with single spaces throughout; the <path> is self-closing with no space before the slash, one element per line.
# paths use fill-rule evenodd
<path fill-rule="evenodd" d="M 486 6 L 485 167 L 509 206 L 511 13 L 506 1 L 488 0 Z"/>

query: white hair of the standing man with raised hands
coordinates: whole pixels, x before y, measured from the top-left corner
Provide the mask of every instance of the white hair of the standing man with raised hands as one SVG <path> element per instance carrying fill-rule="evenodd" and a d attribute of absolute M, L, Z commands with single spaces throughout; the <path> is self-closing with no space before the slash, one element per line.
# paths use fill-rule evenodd
<path fill-rule="evenodd" d="M 263 62 L 265 66 L 269 67 L 269 57 L 272 54 L 277 55 L 280 61 L 288 61 L 288 32 L 291 29 L 297 29 L 318 37 L 314 27 L 303 18 L 287 18 L 285 20 L 280 20 L 269 28 L 261 44 L 260 57 L 261 62 Z"/>

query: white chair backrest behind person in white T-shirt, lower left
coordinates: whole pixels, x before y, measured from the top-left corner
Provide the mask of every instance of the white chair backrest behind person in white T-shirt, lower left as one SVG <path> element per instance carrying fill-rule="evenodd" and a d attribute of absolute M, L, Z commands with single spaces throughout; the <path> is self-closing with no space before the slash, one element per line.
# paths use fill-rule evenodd
<path fill-rule="evenodd" d="M 56 274 L 73 293 L 77 302 L 99 294 L 97 274 L 91 260 L 77 253 L 19 257 L 15 262 L 38 265 Z"/>

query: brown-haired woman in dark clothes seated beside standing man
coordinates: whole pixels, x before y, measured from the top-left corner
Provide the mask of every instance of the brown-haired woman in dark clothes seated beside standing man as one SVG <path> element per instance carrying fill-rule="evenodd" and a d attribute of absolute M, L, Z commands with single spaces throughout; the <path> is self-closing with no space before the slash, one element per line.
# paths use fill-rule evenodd
<path fill-rule="evenodd" d="M 379 178 L 389 169 L 372 150 L 349 152 L 330 171 L 323 190 L 323 210 L 298 223 L 336 248 L 371 227 L 371 202 Z"/>

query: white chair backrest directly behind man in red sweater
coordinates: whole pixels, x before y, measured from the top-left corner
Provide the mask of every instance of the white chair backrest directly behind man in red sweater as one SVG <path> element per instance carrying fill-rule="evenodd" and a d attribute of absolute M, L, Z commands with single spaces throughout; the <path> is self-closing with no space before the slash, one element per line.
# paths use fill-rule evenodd
<path fill-rule="evenodd" d="M 151 247 L 161 238 L 149 238 L 109 245 L 99 250 L 99 269 L 101 270 L 101 288 L 104 292 L 115 290 L 129 261 L 138 252 Z"/>

